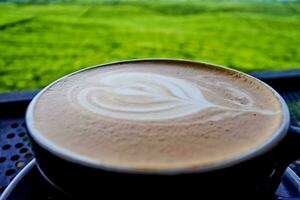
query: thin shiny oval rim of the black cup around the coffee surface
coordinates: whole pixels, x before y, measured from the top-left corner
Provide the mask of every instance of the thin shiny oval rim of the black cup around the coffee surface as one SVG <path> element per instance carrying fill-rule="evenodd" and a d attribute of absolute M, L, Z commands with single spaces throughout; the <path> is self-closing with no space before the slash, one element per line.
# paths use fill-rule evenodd
<path fill-rule="evenodd" d="M 266 88 L 268 88 L 272 94 L 274 95 L 275 98 L 278 99 L 281 109 L 282 109 L 282 121 L 279 126 L 279 128 L 273 133 L 272 137 L 270 137 L 264 144 L 258 146 L 257 148 L 248 151 L 244 154 L 241 154 L 237 157 L 234 157 L 229 160 L 225 160 L 222 162 L 217 162 L 208 166 L 199 166 L 199 167 L 186 167 L 186 168 L 170 168 L 170 169 L 137 169 L 137 168 L 130 168 L 130 167 L 120 167 L 120 166 L 115 166 L 115 165 L 109 165 L 106 163 L 99 163 L 96 162 L 92 159 L 88 159 L 84 156 L 80 155 L 75 155 L 75 153 L 72 153 L 69 150 L 63 149 L 59 147 L 58 145 L 55 145 L 54 143 L 51 143 L 46 137 L 44 137 L 42 134 L 39 133 L 37 129 L 34 128 L 33 122 L 33 112 L 34 112 L 34 107 L 39 99 L 39 97 L 52 85 L 56 84 L 62 79 L 65 79 L 69 76 L 81 73 L 83 71 L 87 70 L 92 70 L 94 68 L 98 67 L 107 67 L 111 65 L 116 65 L 116 64 L 126 64 L 126 63 L 137 63 L 137 62 L 155 62 L 155 61 L 170 61 L 170 62 L 183 62 L 183 63 L 191 63 L 191 64 L 199 64 L 199 65 L 206 65 L 210 67 L 215 67 L 215 68 L 221 68 L 227 71 L 231 71 L 234 73 L 242 74 L 250 79 L 256 80 L 258 83 L 264 85 Z M 267 152 L 268 150 L 272 149 L 274 146 L 276 146 L 287 134 L 289 125 L 290 125 L 290 114 L 289 110 L 287 107 L 286 102 L 284 99 L 276 92 L 272 87 L 267 85 L 266 83 L 262 82 L 261 80 L 246 74 L 244 72 L 231 69 L 228 67 L 224 67 L 221 65 L 216 65 L 216 64 L 211 64 L 207 62 L 202 62 L 202 61 L 193 61 L 193 60 L 186 60 L 186 59 L 173 59 L 173 58 L 144 58 L 144 59 L 131 59 L 131 60 L 123 60 L 123 61 L 117 61 L 117 62 L 110 62 L 110 63 L 105 63 L 105 64 L 100 64 L 100 65 L 94 65 L 91 67 L 87 67 L 78 71 L 75 71 L 73 73 L 67 74 L 54 82 L 50 83 L 48 86 L 43 88 L 30 102 L 26 114 L 25 114 L 25 123 L 28 129 L 29 135 L 32 137 L 32 139 L 41 147 L 43 147 L 45 150 L 49 151 L 55 156 L 58 156 L 59 158 L 70 161 L 72 163 L 76 163 L 79 165 L 83 165 L 86 167 L 91 167 L 94 169 L 99 169 L 99 170 L 104 170 L 104 171 L 111 171 L 111 172 L 118 172 L 118 173 L 130 173 L 130 174 L 152 174 L 152 175 L 174 175 L 174 174 L 189 174 L 189 173 L 205 173 L 209 171 L 214 171 L 214 170 L 219 170 L 219 169 L 224 169 L 224 168 L 229 168 L 232 167 L 236 164 L 242 163 L 247 160 L 251 160 L 259 155 L 262 155 L 263 153 Z"/>

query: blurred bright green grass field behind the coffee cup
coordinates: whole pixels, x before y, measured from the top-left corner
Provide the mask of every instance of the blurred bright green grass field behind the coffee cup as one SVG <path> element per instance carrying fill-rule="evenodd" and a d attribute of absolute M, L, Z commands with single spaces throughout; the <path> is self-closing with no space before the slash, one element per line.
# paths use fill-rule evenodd
<path fill-rule="evenodd" d="M 183 58 L 243 71 L 300 67 L 300 3 L 0 4 L 0 91 L 87 66 Z"/>

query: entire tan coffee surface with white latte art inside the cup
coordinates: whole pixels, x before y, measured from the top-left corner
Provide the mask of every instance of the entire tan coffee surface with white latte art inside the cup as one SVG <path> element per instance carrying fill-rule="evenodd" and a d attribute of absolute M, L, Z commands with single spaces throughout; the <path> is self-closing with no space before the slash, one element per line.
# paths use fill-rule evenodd
<path fill-rule="evenodd" d="M 256 79 L 208 64 L 133 61 L 75 73 L 37 99 L 33 126 L 56 152 L 99 165 L 201 168 L 245 155 L 282 123 Z"/>

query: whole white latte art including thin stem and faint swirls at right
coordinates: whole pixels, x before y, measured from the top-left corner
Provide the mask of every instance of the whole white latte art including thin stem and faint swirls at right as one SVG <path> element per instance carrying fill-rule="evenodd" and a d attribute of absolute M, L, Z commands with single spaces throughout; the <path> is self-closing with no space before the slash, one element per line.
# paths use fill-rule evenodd
<path fill-rule="evenodd" d="M 211 85 L 225 89 L 227 96 L 224 101 L 231 106 L 216 105 L 203 96 L 201 90 L 217 95 L 208 87 Z M 101 116 L 134 121 L 174 119 L 207 108 L 223 112 L 203 121 L 221 120 L 243 112 L 274 114 L 256 108 L 250 95 L 221 81 L 200 86 L 180 78 L 143 72 L 101 74 L 87 80 L 82 87 L 74 86 L 69 92 L 69 100 L 75 107 L 80 105 L 84 110 Z"/>

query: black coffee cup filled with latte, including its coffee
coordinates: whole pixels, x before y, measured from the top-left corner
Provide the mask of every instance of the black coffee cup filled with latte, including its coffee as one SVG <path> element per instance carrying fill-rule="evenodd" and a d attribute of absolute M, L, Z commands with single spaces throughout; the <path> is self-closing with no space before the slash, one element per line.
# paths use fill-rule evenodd
<path fill-rule="evenodd" d="M 262 195 L 300 154 L 291 156 L 300 139 L 289 123 L 265 83 L 175 59 L 74 72 L 26 112 L 40 173 L 71 198 Z"/>

